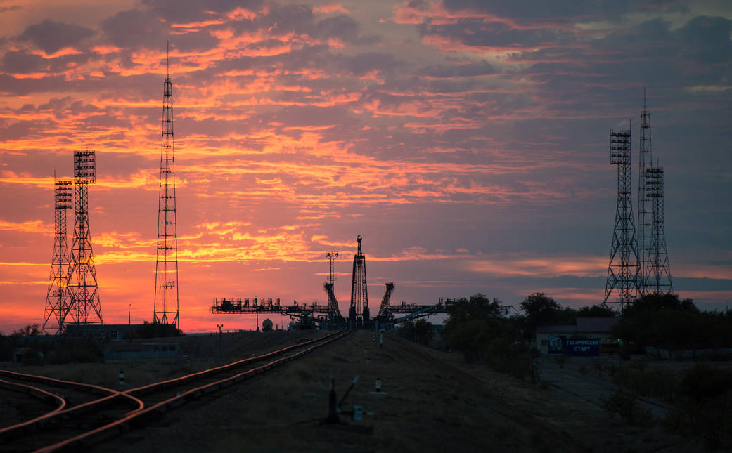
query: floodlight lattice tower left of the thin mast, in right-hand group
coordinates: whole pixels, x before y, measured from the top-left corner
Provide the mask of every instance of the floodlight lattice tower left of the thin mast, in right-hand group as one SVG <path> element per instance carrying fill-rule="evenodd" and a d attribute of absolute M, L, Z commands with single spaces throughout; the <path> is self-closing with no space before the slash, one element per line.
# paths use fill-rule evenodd
<path fill-rule="evenodd" d="M 602 305 L 607 306 L 608 301 L 617 302 L 622 311 L 625 304 L 635 298 L 638 275 L 638 249 L 631 198 L 630 129 L 610 130 L 610 164 L 618 166 L 618 204 Z M 610 300 L 613 292 L 616 299 Z"/>

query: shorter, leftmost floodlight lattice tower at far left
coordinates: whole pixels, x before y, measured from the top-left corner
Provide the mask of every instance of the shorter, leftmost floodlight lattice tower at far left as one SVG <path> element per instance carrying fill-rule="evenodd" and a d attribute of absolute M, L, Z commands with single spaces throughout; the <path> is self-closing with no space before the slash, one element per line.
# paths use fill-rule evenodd
<path fill-rule="evenodd" d="M 54 182 L 55 235 L 53 238 L 53 256 L 51 257 L 51 275 L 48 278 L 48 292 L 46 292 L 46 305 L 43 313 L 43 332 L 55 328 L 57 333 L 60 334 L 64 330 L 62 317 L 64 307 L 69 305 L 69 293 L 66 289 L 66 283 L 69 278 L 70 264 L 66 232 L 66 210 L 73 208 L 73 183 L 72 180 L 56 180 Z M 55 321 L 55 327 L 51 325 L 53 324 L 51 318 Z"/>

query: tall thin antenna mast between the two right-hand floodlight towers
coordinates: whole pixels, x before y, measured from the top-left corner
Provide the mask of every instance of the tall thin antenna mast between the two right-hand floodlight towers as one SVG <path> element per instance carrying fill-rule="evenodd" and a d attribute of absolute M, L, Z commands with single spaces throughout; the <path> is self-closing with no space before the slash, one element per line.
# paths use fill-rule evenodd
<path fill-rule="evenodd" d="M 651 200 L 646 196 L 646 168 L 653 162 L 651 151 L 651 114 L 646 109 L 646 88 L 643 87 L 641 111 L 640 159 L 638 159 L 638 295 L 646 294 L 651 261 Z"/>

